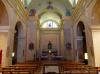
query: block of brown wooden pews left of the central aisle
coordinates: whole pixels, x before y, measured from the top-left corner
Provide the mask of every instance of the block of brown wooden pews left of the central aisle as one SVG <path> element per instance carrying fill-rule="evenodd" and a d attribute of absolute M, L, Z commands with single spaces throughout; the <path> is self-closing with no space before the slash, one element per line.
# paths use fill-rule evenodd
<path fill-rule="evenodd" d="M 40 68 L 40 63 L 19 63 L 16 65 L 11 65 L 9 67 L 1 68 L 0 72 L 8 74 L 38 74 Z"/>

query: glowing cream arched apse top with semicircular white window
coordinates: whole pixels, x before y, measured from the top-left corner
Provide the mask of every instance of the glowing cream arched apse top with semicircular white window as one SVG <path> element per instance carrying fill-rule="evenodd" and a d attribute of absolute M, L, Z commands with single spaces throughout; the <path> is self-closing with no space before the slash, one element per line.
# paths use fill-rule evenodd
<path fill-rule="evenodd" d="M 61 27 L 61 17 L 57 13 L 46 12 L 41 15 L 40 28 L 52 28 L 53 29 L 53 28 L 60 28 L 60 27 Z"/>

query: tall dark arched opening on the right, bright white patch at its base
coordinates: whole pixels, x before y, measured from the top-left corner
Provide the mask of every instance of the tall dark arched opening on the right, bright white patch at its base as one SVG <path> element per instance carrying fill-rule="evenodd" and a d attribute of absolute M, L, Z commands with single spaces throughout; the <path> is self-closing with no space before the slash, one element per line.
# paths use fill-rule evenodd
<path fill-rule="evenodd" d="M 79 62 L 88 64 L 85 26 L 81 21 L 77 25 L 77 51 Z"/>

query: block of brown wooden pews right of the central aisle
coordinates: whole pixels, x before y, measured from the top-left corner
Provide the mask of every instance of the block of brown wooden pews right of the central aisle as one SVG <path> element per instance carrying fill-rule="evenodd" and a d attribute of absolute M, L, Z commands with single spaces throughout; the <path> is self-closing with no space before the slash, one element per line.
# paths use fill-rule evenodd
<path fill-rule="evenodd" d="M 95 67 L 84 65 L 83 63 L 66 62 L 59 63 L 61 74 L 97 74 Z"/>

